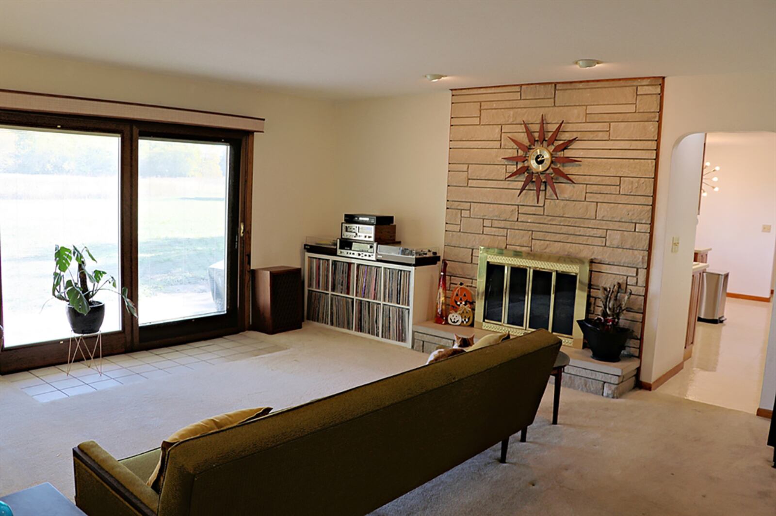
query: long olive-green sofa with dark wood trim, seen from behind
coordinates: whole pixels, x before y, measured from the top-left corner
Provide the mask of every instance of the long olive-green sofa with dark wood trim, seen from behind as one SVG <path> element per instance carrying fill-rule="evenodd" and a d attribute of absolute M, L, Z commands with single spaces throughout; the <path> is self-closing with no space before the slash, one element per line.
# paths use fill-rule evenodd
<path fill-rule="evenodd" d="M 83 442 L 75 501 L 89 516 L 365 514 L 498 442 L 503 460 L 559 349 L 540 330 L 179 442 L 160 494 L 145 483 L 158 448 L 116 460 Z"/>

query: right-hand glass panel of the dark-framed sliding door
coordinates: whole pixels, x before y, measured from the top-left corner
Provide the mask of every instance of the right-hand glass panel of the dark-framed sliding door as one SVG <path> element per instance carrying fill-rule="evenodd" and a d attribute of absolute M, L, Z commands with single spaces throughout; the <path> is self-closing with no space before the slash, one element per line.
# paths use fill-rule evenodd
<path fill-rule="evenodd" d="M 234 144 L 140 136 L 140 333 L 163 338 L 234 321 Z"/>

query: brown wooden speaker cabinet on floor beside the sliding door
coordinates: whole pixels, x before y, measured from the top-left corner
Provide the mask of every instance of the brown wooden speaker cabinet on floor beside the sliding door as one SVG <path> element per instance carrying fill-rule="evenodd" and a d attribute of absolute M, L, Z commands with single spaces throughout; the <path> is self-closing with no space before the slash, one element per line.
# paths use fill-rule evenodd
<path fill-rule="evenodd" d="M 251 329 L 287 332 L 300 329 L 302 318 L 302 270 L 286 266 L 254 269 Z"/>

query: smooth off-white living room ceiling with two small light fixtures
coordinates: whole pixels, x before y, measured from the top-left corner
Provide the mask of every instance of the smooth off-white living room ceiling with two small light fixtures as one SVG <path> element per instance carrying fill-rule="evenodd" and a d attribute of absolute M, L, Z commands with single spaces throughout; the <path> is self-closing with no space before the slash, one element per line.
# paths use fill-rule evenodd
<path fill-rule="evenodd" d="M 0 49 L 350 98 L 774 71 L 774 22 L 774 0 L 0 0 Z"/>

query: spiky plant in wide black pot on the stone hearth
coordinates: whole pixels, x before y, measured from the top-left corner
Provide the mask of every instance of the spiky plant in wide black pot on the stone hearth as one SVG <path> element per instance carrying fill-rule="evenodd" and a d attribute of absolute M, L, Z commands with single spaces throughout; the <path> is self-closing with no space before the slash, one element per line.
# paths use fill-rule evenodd
<path fill-rule="evenodd" d="M 601 288 L 601 316 L 594 319 L 577 321 L 582 330 L 587 347 L 593 352 L 593 358 L 601 362 L 619 362 L 620 353 L 631 335 L 629 328 L 622 328 L 620 316 L 628 310 L 628 301 L 632 291 L 625 293 L 622 285 Z"/>

